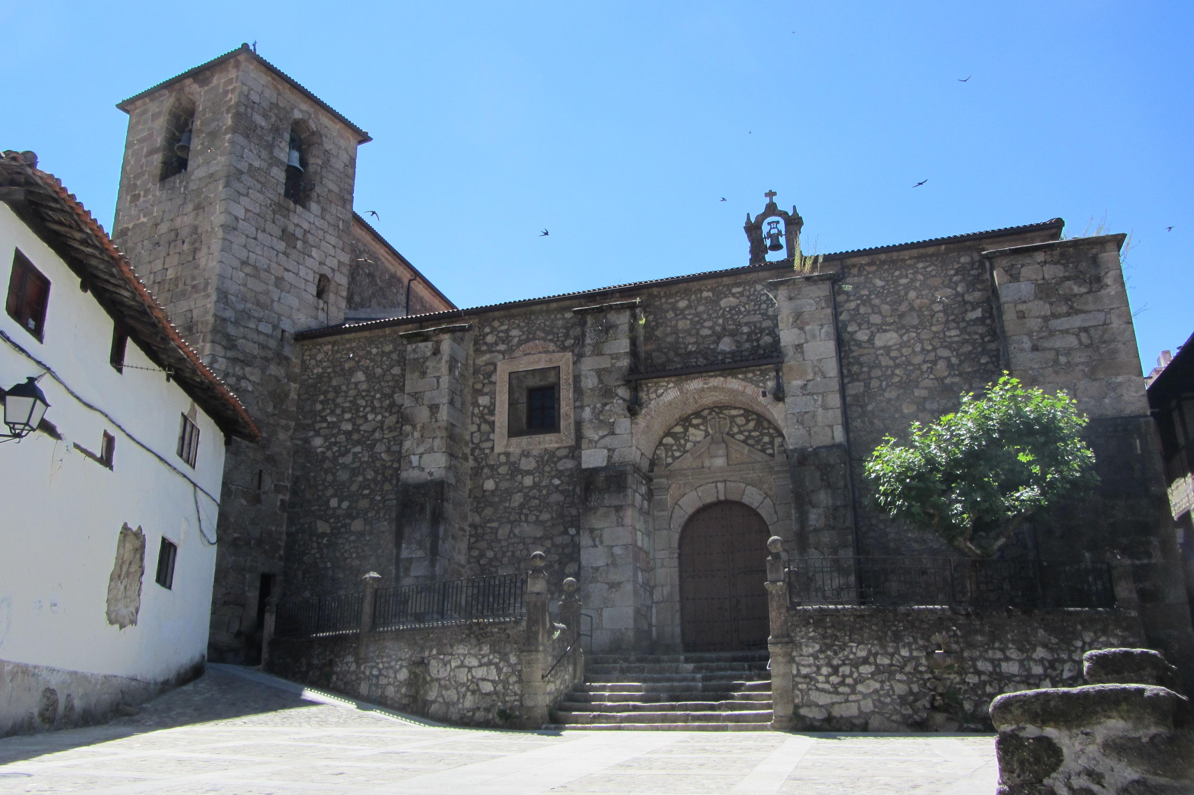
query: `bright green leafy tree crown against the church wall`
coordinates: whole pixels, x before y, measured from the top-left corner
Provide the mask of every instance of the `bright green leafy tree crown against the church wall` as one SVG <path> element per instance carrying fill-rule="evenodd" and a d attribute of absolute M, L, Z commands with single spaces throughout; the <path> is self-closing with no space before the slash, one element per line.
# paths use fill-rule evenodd
<path fill-rule="evenodd" d="M 1064 392 L 1047 395 L 1004 374 L 984 398 L 931 425 L 912 423 L 905 445 L 887 437 L 866 464 L 879 507 L 987 557 L 1032 516 L 1089 492 L 1095 454 L 1087 418 Z"/>

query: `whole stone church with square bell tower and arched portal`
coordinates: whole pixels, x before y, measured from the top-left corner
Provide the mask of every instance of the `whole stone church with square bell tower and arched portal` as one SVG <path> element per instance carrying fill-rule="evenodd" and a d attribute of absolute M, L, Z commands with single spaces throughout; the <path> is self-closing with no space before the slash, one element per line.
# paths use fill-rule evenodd
<path fill-rule="evenodd" d="M 1102 477 L 1005 554 L 1114 563 L 1149 642 L 1192 659 L 1124 235 L 813 260 L 769 192 L 740 266 L 457 309 L 352 212 L 368 135 L 248 48 L 121 107 L 115 236 L 263 432 L 228 452 L 211 659 L 253 660 L 267 596 L 533 551 L 579 581 L 597 652 L 765 646 L 771 536 L 793 566 L 954 555 L 874 510 L 862 466 L 1004 371 L 1078 400 Z"/>

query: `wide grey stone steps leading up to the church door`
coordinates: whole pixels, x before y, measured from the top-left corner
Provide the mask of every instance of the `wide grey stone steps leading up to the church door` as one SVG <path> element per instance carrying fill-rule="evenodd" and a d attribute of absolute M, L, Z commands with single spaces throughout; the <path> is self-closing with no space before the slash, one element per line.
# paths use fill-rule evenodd
<path fill-rule="evenodd" d="M 597 654 L 547 729 L 765 731 L 771 723 L 767 653 Z"/>

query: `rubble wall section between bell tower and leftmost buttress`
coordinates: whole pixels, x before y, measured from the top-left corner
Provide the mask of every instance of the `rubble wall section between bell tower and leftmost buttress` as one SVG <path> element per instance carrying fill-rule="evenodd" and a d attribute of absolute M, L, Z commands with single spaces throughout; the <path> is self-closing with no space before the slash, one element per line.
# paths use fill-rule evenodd
<path fill-rule="evenodd" d="M 406 350 L 377 333 L 303 349 L 285 598 L 352 591 L 369 571 L 395 584 Z"/>

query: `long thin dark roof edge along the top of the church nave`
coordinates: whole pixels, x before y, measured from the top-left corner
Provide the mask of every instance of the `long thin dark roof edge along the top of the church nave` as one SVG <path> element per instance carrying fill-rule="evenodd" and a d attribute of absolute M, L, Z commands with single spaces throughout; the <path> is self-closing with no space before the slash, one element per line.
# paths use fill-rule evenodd
<path fill-rule="evenodd" d="M 850 251 L 836 252 L 832 254 L 825 254 L 825 259 L 848 259 L 851 257 L 864 257 L 868 254 L 880 254 L 887 252 L 904 251 L 910 248 L 925 248 L 928 246 L 941 246 L 946 244 L 964 242 L 966 240 L 981 240 L 984 238 L 990 238 L 992 235 L 1005 236 L 1013 234 L 1021 234 L 1024 232 L 1038 232 L 1055 228 L 1060 229 L 1065 226 L 1065 221 L 1061 218 L 1050 218 L 1048 221 L 1041 221 L 1039 223 L 1026 223 L 1018 227 L 1004 227 L 1002 229 L 989 229 L 986 232 L 968 232 L 960 235 L 950 235 L 947 238 L 930 238 L 928 240 L 918 240 L 915 242 L 905 244 L 892 244 L 888 246 L 876 246 L 874 248 L 855 248 Z M 651 284 L 675 284 L 683 282 L 695 282 L 707 278 L 716 278 L 721 276 L 731 276 L 733 273 L 741 273 L 746 271 L 759 271 L 759 270 L 790 270 L 792 260 L 780 260 L 777 263 L 768 263 L 767 265 L 743 265 L 740 267 L 727 267 L 718 271 L 701 271 L 698 273 L 688 273 L 685 276 L 669 276 L 660 279 L 645 279 L 642 282 L 627 282 L 626 284 L 615 284 L 611 286 L 596 288 L 592 290 L 577 290 L 574 292 L 559 292 L 555 295 L 541 296 L 537 298 L 521 298 L 518 301 L 505 301 L 501 303 L 487 303 L 478 307 L 468 307 L 466 309 L 450 309 L 447 312 L 435 312 L 427 313 L 425 315 L 407 315 L 401 318 L 386 318 L 383 320 L 367 320 L 363 322 L 350 323 L 344 322 L 338 326 L 326 326 L 324 328 L 312 328 L 309 331 L 300 332 L 295 334 L 296 340 L 304 339 L 318 339 L 320 337 L 334 337 L 338 334 L 350 334 L 359 331 L 374 331 L 377 328 L 388 328 L 390 326 L 401 326 L 406 323 L 420 322 L 424 320 L 439 320 L 443 318 L 453 316 L 466 316 L 474 314 L 484 314 L 486 312 L 494 312 L 498 309 L 507 309 L 513 307 L 533 306 L 536 303 L 547 303 L 552 301 L 565 301 L 568 298 L 579 298 L 583 296 L 595 296 L 603 292 L 615 292 L 618 290 L 629 290 L 633 288 L 646 286 Z"/>

